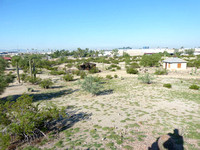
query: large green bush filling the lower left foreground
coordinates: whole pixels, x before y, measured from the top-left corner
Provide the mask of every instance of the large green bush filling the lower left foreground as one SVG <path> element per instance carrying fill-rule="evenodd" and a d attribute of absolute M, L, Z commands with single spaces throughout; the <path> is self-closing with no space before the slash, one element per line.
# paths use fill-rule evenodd
<path fill-rule="evenodd" d="M 66 117 L 64 109 L 52 103 L 41 107 L 32 102 L 32 97 L 22 95 L 16 102 L 0 104 L 0 149 L 6 149 L 10 142 L 28 142 L 46 136 L 53 120 Z M 11 136 L 16 141 L 11 141 Z"/>

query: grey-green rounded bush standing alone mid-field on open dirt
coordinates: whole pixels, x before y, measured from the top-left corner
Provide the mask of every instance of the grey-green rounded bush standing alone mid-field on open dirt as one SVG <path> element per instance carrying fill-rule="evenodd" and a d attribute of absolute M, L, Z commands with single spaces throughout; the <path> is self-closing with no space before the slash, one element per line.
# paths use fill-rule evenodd
<path fill-rule="evenodd" d="M 101 81 L 92 76 L 85 77 L 84 81 L 80 82 L 80 84 L 84 91 L 89 92 L 92 95 L 98 95 L 100 90 L 103 88 Z"/>

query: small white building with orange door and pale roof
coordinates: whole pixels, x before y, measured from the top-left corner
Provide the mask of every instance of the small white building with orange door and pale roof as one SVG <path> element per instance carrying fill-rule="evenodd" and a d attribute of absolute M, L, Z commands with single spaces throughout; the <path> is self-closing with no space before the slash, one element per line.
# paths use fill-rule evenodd
<path fill-rule="evenodd" d="M 163 61 L 163 68 L 169 70 L 184 70 L 187 68 L 187 61 L 177 57 L 168 58 Z"/>

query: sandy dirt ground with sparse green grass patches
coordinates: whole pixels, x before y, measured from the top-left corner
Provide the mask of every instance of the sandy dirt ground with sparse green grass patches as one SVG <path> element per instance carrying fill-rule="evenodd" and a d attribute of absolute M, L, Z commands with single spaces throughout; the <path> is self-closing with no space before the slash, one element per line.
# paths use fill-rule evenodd
<path fill-rule="evenodd" d="M 83 92 L 77 80 L 64 82 L 62 76 L 45 73 L 38 76 L 51 78 L 55 83 L 51 89 L 14 82 L 0 98 L 28 93 L 39 95 L 44 105 L 51 101 L 68 106 L 70 119 L 62 122 L 67 128 L 44 139 L 38 144 L 41 149 L 156 149 L 157 138 L 165 134 L 175 137 L 179 149 L 200 149 L 200 91 L 189 89 L 200 85 L 200 70 L 154 75 L 152 84 L 144 84 L 120 65 L 122 70 L 112 72 L 99 64 L 103 71 L 95 75 L 118 78 L 105 79 L 104 92 L 98 96 Z M 153 73 L 156 68 L 140 72 L 144 69 Z M 164 83 L 172 88 L 163 87 Z M 28 92 L 29 87 L 35 91 Z"/>

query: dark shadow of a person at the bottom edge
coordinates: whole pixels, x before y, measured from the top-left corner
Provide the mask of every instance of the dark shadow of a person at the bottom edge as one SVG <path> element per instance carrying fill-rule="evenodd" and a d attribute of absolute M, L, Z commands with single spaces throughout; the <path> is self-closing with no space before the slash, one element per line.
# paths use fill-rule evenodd
<path fill-rule="evenodd" d="M 163 141 L 163 144 L 160 145 L 159 137 L 152 145 L 149 147 L 149 150 L 160 150 L 159 148 L 162 146 L 165 150 L 184 150 L 183 144 L 183 136 L 179 135 L 179 130 L 174 129 L 174 133 L 168 133 L 170 137 L 166 141 Z"/>

